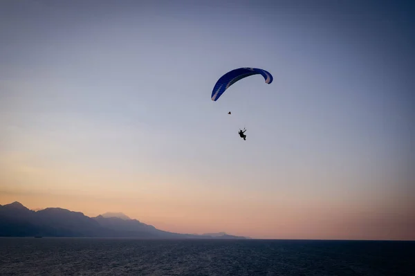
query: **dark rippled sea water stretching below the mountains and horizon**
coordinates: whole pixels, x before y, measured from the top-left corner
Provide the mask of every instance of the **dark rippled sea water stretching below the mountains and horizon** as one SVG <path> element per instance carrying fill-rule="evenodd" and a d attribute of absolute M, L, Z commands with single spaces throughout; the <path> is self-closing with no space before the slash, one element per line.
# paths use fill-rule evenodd
<path fill-rule="evenodd" d="M 415 242 L 0 238 L 0 275 L 415 275 Z"/>

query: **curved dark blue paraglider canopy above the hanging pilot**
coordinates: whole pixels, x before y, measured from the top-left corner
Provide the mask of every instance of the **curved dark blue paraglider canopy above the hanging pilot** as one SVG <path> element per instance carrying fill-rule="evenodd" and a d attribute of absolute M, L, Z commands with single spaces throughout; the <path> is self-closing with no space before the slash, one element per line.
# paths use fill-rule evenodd
<path fill-rule="evenodd" d="M 271 82 L 273 82 L 273 75 L 271 75 L 268 71 L 265 71 L 264 69 L 249 67 L 237 68 L 232 71 L 229 71 L 228 73 L 225 73 L 225 75 L 219 78 L 219 80 L 214 85 L 212 91 L 212 100 L 218 100 L 219 97 L 221 97 L 221 95 L 223 94 L 223 92 L 225 92 L 225 90 L 228 89 L 232 84 L 251 75 L 262 75 L 262 77 L 264 77 L 266 84 L 270 84 Z"/>

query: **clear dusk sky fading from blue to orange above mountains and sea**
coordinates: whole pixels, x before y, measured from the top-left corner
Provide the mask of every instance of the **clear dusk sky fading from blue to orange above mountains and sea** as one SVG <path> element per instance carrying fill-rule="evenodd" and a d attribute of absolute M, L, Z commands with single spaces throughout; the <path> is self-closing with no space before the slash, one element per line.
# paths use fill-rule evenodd
<path fill-rule="evenodd" d="M 413 240 L 414 18 L 414 1 L 1 1 L 0 204 Z M 274 81 L 212 101 L 239 67 Z"/>

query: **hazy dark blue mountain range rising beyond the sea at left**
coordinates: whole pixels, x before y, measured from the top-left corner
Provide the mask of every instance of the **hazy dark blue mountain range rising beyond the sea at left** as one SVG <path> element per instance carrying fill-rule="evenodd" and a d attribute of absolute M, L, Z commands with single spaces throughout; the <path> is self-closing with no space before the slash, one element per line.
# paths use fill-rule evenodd
<path fill-rule="evenodd" d="M 0 237 L 134 237 L 140 239 L 248 239 L 225 232 L 180 234 L 158 230 L 121 212 L 87 217 L 62 208 L 29 210 L 19 202 L 0 205 Z"/>

